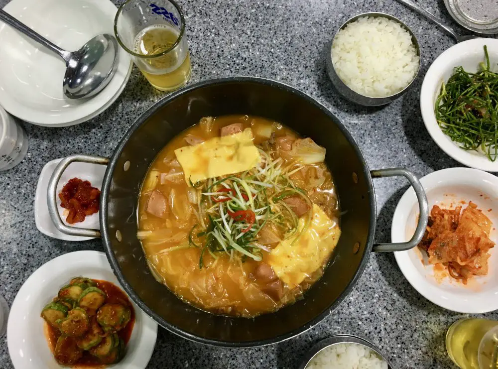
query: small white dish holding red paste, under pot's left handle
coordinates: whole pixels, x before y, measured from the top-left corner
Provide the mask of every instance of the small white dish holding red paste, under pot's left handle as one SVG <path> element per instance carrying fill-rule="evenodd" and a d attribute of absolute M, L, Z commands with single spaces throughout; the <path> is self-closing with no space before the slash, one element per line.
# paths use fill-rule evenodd
<path fill-rule="evenodd" d="M 55 228 L 52 219 L 48 213 L 47 206 L 47 187 L 48 181 L 54 172 L 55 167 L 62 159 L 55 159 L 49 161 L 45 164 L 40 173 L 40 178 L 38 179 L 38 185 L 36 186 L 36 195 L 34 198 L 34 220 L 36 228 L 38 230 L 50 237 L 59 240 L 66 241 L 86 241 L 91 240 L 89 237 L 78 237 L 66 235 L 57 228 Z M 89 181 L 93 187 L 97 187 L 102 190 L 102 181 L 104 179 L 104 174 L 106 173 L 105 165 L 90 164 L 73 162 L 69 164 L 64 173 L 62 173 L 61 179 L 57 184 L 57 194 L 62 190 L 62 187 L 71 179 L 79 178 L 84 181 Z M 81 223 L 68 224 L 66 222 L 66 216 L 64 215 L 64 208 L 60 206 L 60 202 L 57 202 L 57 209 L 62 218 L 62 221 L 66 226 L 73 226 L 77 228 L 90 228 L 90 229 L 100 229 L 99 213 L 87 216 L 85 220 Z"/>

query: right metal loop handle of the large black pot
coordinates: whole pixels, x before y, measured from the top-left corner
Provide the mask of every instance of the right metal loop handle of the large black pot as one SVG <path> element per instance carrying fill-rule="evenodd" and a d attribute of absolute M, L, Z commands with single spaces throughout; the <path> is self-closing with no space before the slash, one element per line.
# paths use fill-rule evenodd
<path fill-rule="evenodd" d="M 415 234 L 412 236 L 410 241 L 402 242 L 397 244 L 374 244 L 373 251 L 375 252 L 390 252 L 390 251 L 405 251 L 409 250 L 418 245 L 418 243 L 424 237 L 425 229 L 427 227 L 427 221 L 429 220 L 429 204 L 427 203 L 427 196 L 425 195 L 424 188 L 418 180 L 418 178 L 407 169 L 404 168 L 390 168 L 390 169 L 379 169 L 372 170 L 370 172 L 372 178 L 382 178 L 382 177 L 405 177 L 417 195 L 418 207 L 420 209 L 420 216 L 418 218 L 417 228 Z"/>

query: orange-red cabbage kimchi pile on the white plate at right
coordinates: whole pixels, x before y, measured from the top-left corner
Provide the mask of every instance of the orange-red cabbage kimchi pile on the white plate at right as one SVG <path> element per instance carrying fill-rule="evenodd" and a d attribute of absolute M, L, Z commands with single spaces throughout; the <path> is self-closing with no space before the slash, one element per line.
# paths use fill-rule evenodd
<path fill-rule="evenodd" d="M 443 264 L 451 277 L 467 284 L 468 278 L 488 273 L 490 219 L 470 202 L 462 211 L 441 209 L 434 205 L 425 235 L 418 245 L 429 256 L 430 264 Z"/>

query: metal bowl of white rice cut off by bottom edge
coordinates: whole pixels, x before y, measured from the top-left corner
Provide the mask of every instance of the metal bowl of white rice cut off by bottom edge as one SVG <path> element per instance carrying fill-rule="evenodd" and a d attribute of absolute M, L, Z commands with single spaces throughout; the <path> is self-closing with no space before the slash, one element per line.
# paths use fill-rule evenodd
<path fill-rule="evenodd" d="M 367 340 L 336 335 L 318 342 L 299 369 L 392 369 Z"/>

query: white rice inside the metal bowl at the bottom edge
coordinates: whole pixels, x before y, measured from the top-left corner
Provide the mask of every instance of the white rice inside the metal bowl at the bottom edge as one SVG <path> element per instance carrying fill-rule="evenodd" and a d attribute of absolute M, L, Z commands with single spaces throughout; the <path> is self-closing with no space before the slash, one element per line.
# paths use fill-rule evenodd
<path fill-rule="evenodd" d="M 387 363 L 366 346 L 344 343 L 320 351 L 306 369 L 387 369 Z"/>

